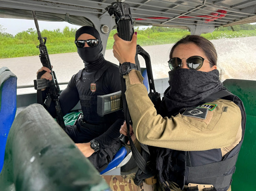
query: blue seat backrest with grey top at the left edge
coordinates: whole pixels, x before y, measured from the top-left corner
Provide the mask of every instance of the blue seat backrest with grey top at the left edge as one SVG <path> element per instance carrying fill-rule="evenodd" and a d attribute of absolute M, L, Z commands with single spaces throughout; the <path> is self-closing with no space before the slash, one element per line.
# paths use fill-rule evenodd
<path fill-rule="evenodd" d="M 7 67 L 0 68 L 0 171 L 7 136 L 16 114 L 17 77 Z"/>

